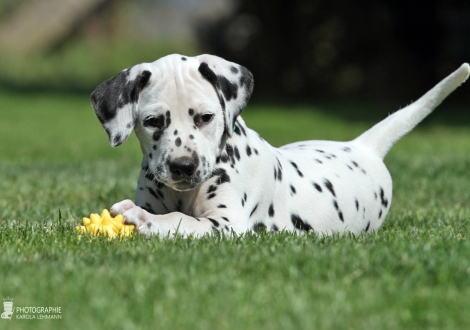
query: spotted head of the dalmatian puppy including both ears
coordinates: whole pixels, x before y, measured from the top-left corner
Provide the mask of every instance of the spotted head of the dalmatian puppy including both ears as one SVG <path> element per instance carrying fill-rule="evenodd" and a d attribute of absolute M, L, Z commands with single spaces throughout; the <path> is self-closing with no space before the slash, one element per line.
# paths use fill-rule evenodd
<path fill-rule="evenodd" d="M 103 82 L 91 101 L 113 147 L 134 129 L 150 174 L 183 191 L 211 176 L 252 90 L 243 66 L 213 55 L 169 55 Z"/>

